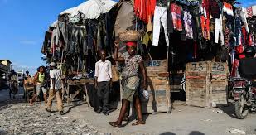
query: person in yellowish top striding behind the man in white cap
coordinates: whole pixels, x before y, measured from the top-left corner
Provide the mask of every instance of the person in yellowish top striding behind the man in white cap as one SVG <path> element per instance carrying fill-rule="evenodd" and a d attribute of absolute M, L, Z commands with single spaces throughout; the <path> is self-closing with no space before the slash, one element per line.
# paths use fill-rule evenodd
<path fill-rule="evenodd" d="M 46 94 L 46 69 L 44 66 L 39 67 L 39 72 L 36 72 L 34 80 L 36 81 L 36 94 L 30 99 L 30 105 L 33 105 L 34 100 L 39 96 L 42 91 L 44 94 L 45 104 L 47 104 Z"/>

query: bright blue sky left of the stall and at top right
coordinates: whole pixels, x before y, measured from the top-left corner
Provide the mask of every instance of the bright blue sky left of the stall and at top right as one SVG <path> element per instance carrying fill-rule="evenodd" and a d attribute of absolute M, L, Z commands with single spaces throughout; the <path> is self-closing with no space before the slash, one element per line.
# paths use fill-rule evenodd
<path fill-rule="evenodd" d="M 0 59 L 12 61 L 16 70 L 33 73 L 40 65 L 41 45 L 48 26 L 60 12 L 85 0 L 0 0 Z M 239 0 L 244 7 L 256 0 Z"/>

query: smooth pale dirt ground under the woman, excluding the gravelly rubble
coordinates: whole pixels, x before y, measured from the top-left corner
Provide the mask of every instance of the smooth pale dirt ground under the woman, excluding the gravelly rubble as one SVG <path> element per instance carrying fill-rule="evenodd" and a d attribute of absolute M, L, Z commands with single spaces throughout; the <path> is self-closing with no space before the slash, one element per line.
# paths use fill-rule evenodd
<path fill-rule="evenodd" d="M 109 116 L 94 113 L 86 105 L 72 109 L 70 113 L 78 113 L 78 118 L 85 118 L 87 123 L 99 127 L 101 131 L 112 134 L 167 134 L 167 135 L 229 135 L 231 130 L 243 130 L 247 134 L 256 134 L 255 114 L 249 114 L 248 118 L 240 120 L 235 118 L 231 105 L 225 108 L 197 108 L 174 104 L 175 109 L 171 114 L 157 113 L 144 115 L 146 125 L 133 127 L 131 123 L 123 128 L 112 128 L 109 121 L 118 118 L 119 110 L 110 113 Z"/>

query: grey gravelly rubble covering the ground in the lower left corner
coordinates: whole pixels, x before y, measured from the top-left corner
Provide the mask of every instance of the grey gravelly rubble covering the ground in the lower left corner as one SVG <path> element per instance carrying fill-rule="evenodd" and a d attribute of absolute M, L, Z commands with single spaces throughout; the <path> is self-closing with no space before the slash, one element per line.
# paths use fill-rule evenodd
<path fill-rule="evenodd" d="M 47 113 L 40 104 L 0 107 L 1 134 L 105 134 L 80 119 Z"/>

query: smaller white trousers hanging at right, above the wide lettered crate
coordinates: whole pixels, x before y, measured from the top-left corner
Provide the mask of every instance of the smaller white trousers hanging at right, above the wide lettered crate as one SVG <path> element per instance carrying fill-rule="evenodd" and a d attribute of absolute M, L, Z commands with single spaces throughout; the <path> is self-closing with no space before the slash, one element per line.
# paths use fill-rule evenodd
<path fill-rule="evenodd" d="M 221 14 L 220 14 L 220 18 L 215 18 L 215 43 L 219 42 L 219 35 L 220 35 L 221 45 L 224 45 L 224 35 L 223 35 Z"/>

